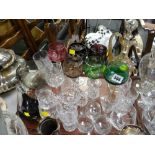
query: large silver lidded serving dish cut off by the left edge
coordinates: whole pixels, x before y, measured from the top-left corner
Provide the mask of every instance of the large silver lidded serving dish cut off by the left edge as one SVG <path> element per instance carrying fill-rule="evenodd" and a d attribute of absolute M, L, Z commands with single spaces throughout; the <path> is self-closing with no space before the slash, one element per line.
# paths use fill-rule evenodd
<path fill-rule="evenodd" d="M 18 83 L 16 70 L 25 65 L 26 61 L 13 50 L 0 49 L 0 94 L 15 88 Z"/>

